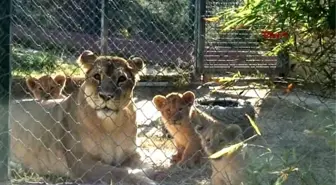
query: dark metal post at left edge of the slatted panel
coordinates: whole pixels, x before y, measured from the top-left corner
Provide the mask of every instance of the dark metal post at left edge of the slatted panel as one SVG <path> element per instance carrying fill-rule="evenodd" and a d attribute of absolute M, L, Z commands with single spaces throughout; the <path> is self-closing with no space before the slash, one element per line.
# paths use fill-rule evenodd
<path fill-rule="evenodd" d="M 206 0 L 195 1 L 195 53 L 196 53 L 196 76 L 203 74 L 204 69 L 204 47 L 205 47 L 205 15 Z"/>

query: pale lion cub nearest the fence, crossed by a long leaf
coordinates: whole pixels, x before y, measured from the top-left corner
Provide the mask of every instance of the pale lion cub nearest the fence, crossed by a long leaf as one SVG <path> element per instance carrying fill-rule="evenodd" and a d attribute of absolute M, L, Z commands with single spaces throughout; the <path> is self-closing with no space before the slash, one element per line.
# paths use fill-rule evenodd
<path fill-rule="evenodd" d="M 236 124 L 199 124 L 195 132 L 200 136 L 202 148 L 212 155 L 232 144 L 243 140 L 242 129 Z M 244 180 L 245 159 L 239 150 L 230 156 L 211 159 L 212 185 L 240 185 Z"/>

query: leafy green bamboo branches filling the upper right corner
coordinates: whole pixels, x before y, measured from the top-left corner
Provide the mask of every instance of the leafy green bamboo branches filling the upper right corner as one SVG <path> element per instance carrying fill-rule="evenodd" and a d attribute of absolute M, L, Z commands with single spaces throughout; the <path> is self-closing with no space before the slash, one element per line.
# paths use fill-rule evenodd
<path fill-rule="evenodd" d="M 268 55 L 286 50 L 295 69 L 306 69 L 299 77 L 335 87 L 336 4 L 315 0 L 245 0 L 239 7 L 226 8 L 218 20 L 223 32 L 245 28 L 270 49 Z M 288 38 L 265 39 L 265 31 L 288 33 Z"/>

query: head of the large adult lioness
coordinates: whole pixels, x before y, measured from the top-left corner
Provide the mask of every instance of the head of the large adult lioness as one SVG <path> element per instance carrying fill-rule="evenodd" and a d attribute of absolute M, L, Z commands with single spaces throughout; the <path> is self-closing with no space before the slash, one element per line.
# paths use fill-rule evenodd
<path fill-rule="evenodd" d="M 138 72 L 144 66 L 142 59 L 96 56 L 84 51 L 78 62 L 86 73 L 82 86 L 85 100 L 98 117 L 111 117 L 131 102 Z"/>

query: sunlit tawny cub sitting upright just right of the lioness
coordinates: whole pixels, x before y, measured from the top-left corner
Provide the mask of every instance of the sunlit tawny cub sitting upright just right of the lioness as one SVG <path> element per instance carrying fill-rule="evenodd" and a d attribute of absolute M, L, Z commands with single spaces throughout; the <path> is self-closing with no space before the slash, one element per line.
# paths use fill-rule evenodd
<path fill-rule="evenodd" d="M 199 163 L 202 156 L 200 138 L 189 119 L 194 100 L 195 95 L 191 91 L 183 94 L 172 92 L 167 96 L 156 95 L 153 98 L 153 103 L 160 111 L 162 121 L 177 148 L 177 153 L 172 156 L 171 162 L 187 167 Z"/>

